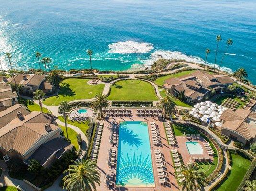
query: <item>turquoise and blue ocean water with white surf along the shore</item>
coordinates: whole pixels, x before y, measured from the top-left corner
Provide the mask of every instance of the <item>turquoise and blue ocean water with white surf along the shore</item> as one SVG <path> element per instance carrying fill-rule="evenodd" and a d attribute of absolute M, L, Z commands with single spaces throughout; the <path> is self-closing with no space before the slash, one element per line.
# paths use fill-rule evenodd
<path fill-rule="evenodd" d="M 223 68 L 244 67 L 256 84 L 255 0 L 0 0 L 0 60 L 12 53 L 16 68 L 37 67 L 35 52 L 61 69 L 128 70 L 154 60 L 181 58 L 202 63 L 221 34 L 217 63 L 233 39 Z M 7 67 L 7 66 L 5 66 Z"/>

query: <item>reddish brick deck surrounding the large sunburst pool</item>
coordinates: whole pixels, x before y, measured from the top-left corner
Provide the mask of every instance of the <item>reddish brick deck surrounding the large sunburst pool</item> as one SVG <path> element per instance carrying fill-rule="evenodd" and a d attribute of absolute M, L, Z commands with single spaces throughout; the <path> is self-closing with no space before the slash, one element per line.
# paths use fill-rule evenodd
<path fill-rule="evenodd" d="M 174 149 L 174 147 L 168 145 L 165 130 L 163 127 L 163 122 L 158 121 L 157 117 L 138 117 L 136 116 L 136 110 L 132 109 L 132 116 L 133 117 L 110 117 L 107 120 L 101 121 L 104 123 L 103 133 L 102 133 L 102 139 L 98 154 L 98 160 L 97 160 L 97 166 L 101 173 L 101 185 L 97 185 L 97 191 L 178 191 L 177 181 L 175 180 L 174 176 L 174 165 L 171 159 L 170 151 L 171 149 Z M 108 187 L 105 184 L 105 177 L 107 174 L 110 174 L 110 172 L 113 170 L 116 174 L 116 166 L 111 170 L 111 168 L 107 164 L 107 158 L 108 158 L 108 149 L 113 148 L 108 141 L 110 138 L 110 123 L 112 121 L 115 121 L 119 123 L 120 121 L 147 121 L 148 127 L 150 128 L 149 122 L 155 121 L 157 127 L 159 128 L 160 137 L 161 137 L 161 144 L 160 146 L 154 146 L 152 143 L 152 135 L 151 130 L 149 129 L 150 133 L 150 144 L 151 144 L 151 157 L 152 157 L 152 163 L 153 163 L 153 170 L 154 170 L 154 178 L 155 178 L 155 187 L 114 187 L 111 189 L 108 189 Z M 117 144 L 118 145 L 118 144 Z M 115 146 L 115 149 L 117 150 L 117 146 Z M 164 154 L 165 161 L 166 161 L 166 167 L 167 167 L 167 182 L 165 185 L 160 185 L 158 182 L 158 176 L 157 176 L 157 168 L 156 168 L 156 161 L 154 158 L 154 149 L 160 149 L 161 152 Z"/>

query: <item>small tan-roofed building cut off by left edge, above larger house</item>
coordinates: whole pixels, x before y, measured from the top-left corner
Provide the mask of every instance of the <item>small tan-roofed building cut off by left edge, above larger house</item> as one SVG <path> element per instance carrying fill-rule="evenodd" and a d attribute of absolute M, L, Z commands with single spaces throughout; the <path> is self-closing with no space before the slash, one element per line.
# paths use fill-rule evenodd
<path fill-rule="evenodd" d="M 12 92 L 12 88 L 9 84 L 0 82 L 0 111 L 18 103 L 17 98 L 17 93 Z"/>

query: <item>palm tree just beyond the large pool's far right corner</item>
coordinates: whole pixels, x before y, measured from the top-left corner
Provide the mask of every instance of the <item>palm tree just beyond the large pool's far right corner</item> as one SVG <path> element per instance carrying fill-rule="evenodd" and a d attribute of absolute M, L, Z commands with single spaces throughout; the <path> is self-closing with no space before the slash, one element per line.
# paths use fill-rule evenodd
<path fill-rule="evenodd" d="M 175 110 L 176 104 L 174 102 L 174 97 L 168 92 L 165 97 L 163 97 L 157 104 L 160 108 L 164 110 L 164 118 L 166 118 L 167 113 L 169 117 L 171 118 L 172 116 L 170 115 L 173 113 Z"/>

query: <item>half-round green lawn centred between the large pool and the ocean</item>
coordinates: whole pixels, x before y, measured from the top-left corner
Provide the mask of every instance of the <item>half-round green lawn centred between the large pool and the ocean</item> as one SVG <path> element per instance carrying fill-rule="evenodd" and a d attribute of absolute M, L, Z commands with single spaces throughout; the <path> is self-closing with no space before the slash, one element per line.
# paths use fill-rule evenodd
<path fill-rule="evenodd" d="M 158 100 L 154 87 L 142 80 L 121 80 L 111 85 L 109 100 L 154 101 Z"/>

